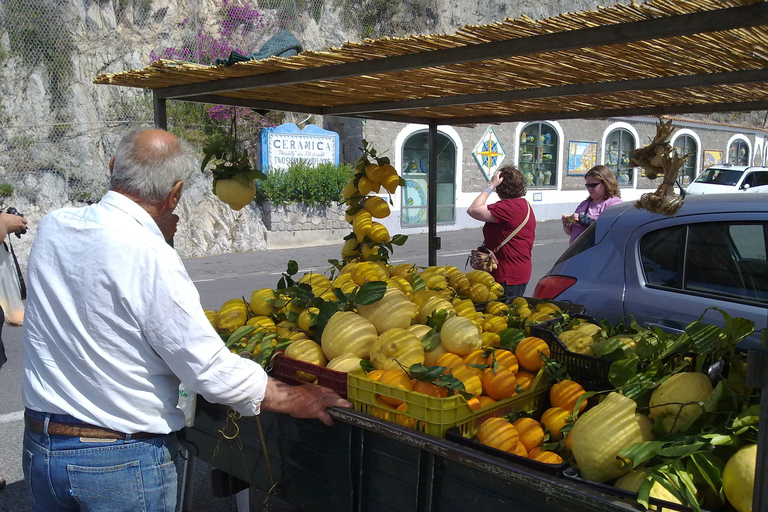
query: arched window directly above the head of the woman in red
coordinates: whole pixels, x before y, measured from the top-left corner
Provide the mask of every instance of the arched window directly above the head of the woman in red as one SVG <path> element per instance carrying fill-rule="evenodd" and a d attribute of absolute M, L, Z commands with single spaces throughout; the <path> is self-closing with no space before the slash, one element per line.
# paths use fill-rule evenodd
<path fill-rule="evenodd" d="M 558 143 L 557 131 L 548 123 L 529 123 L 523 127 L 517 167 L 527 186 L 557 187 Z"/>

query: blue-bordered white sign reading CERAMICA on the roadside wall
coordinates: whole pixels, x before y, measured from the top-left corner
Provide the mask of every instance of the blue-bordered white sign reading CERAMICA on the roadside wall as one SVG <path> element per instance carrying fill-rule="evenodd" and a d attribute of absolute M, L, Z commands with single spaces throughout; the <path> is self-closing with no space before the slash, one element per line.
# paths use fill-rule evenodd
<path fill-rule="evenodd" d="M 262 170 L 287 170 L 302 160 L 315 167 L 339 163 L 339 135 L 314 125 L 299 130 L 294 124 L 262 131 Z"/>

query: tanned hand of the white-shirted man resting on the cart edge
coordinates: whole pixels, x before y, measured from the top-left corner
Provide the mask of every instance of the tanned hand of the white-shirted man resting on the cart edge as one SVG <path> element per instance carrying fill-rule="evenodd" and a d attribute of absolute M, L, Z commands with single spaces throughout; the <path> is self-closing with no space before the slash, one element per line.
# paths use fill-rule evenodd
<path fill-rule="evenodd" d="M 290 386 L 269 377 L 261 407 L 268 411 L 290 414 L 294 418 L 317 418 L 326 425 L 333 425 L 333 420 L 325 409 L 352 407 L 352 404 L 323 386 Z"/>

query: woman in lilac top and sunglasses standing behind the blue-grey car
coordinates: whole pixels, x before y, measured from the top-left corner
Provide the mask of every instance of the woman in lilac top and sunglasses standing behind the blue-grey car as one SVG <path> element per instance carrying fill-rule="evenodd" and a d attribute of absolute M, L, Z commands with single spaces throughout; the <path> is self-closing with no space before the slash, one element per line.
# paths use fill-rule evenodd
<path fill-rule="evenodd" d="M 563 231 L 571 237 L 569 244 L 595 222 L 606 208 L 622 202 L 619 182 L 605 165 L 596 165 L 588 170 L 584 181 L 589 196 L 579 203 L 575 212 L 562 217 Z"/>

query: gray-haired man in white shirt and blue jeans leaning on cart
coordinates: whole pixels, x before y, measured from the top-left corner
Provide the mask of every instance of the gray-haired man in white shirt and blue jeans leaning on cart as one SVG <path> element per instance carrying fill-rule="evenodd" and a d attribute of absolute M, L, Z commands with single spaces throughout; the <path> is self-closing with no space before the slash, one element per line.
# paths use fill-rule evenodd
<path fill-rule="evenodd" d="M 190 392 L 243 415 L 332 420 L 332 390 L 290 386 L 233 354 L 167 242 L 199 172 L 164 130 L 128 133 L 98 203 L 39 223 L 27 267 L 23 468 L 35 512 L 176 510 L 178 405 Z"/>

